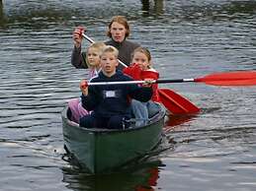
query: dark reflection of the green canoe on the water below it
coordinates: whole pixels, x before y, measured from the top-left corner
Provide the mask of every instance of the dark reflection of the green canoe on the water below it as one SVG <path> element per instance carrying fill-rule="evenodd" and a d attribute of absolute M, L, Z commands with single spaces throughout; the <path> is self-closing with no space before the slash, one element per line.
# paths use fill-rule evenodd
<path fill-rule="evenodd" d="M 74 191 L 153 191 L 159 177 L 160 160 L 113 174 L 90 175 L 74 168 L 63 167 L 63 182 Z"/>

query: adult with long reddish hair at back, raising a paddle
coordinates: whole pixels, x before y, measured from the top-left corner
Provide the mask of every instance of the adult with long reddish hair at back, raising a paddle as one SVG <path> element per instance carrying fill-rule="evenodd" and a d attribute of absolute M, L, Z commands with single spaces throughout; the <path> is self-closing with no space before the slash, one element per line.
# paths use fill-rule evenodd
<path fill-rule="evenodd" d="M 88 68 L 85 62 L 85 54 L 81 52 L 82 35 L 85 32 L 84 28 L 78 27 L 73 32 L 74 48 L 71 56 L 71 63 L 76 68 Z M 130 55 L 139 44 L 129 41 L 128 20 L 124 16 L 115 16 L 112 18 L 107 31 L 107 35 L 111 38 L 105 44 L 112 45 L 119 50 L 119 59 L 125 64 L 129 65 Z M 119 69 L 123 66 L 119 65 Z"/>

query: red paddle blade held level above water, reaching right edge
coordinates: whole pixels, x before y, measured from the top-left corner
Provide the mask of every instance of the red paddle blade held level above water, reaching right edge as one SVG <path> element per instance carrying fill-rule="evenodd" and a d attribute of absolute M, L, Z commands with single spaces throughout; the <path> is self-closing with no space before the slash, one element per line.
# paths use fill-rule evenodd
<path fill-rule="evenodd" d="M 255 86 L 256 71 L 214 73 L 195 79 L 195 82 L 203 82 L 214 86 Z"/>

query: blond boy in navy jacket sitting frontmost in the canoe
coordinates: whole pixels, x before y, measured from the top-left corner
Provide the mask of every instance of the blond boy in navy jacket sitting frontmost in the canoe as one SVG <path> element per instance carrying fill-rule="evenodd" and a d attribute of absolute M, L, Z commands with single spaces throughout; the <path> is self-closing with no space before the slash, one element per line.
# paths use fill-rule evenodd
<path fill-rule="evenodd" d="M 132 81 L 130 77 L 117 70 L 119 51 L 114 46 L 108 45 L 101 54 L 102 71 L 98 77 L 91 80 L 96 82 Z M 152 96 L 150 79 L 142 87 L 136 84 L 87 86 L 82 80 L 82 105 L 91 114 L 80 118 L 80 126 L 85 128 L 128 128 L 128 119 L 131 118 L 130 98 L 146 102 Z"/>

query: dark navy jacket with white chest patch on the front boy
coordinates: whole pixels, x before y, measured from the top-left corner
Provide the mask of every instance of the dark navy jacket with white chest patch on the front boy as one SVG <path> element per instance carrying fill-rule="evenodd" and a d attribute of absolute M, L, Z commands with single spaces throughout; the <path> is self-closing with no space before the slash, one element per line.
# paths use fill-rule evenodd
<path fill-rule="evenodd" d="M 100 72 L 90 82 L 120 82 L 132 81 L 130 77 L 117 70 L 112 77 L 107 77 Z M 131 117 L 130 98 L 143 102 L 148 101 L 153 92 L 151 88 L 139 87 L 136 84 L 128 85 L 102 85 L 89 86 L 88 96 L 81 96 L 82 105 L 88 111 L 93 110 L 99 117 L 125 115 Z"/>

